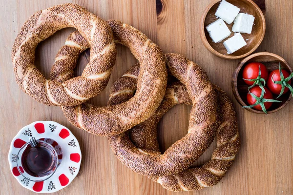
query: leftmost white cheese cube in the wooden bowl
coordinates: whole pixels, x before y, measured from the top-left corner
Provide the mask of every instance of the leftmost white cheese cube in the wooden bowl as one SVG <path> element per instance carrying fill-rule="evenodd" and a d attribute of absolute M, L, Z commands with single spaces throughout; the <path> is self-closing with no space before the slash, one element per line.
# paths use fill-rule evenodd
<path fill-rule="evenodd" d="M 222 19 L 216 20 L 207 27 L 209 37 L 215 42 L 221 42 L 230 36 L 231 32 Z"/>

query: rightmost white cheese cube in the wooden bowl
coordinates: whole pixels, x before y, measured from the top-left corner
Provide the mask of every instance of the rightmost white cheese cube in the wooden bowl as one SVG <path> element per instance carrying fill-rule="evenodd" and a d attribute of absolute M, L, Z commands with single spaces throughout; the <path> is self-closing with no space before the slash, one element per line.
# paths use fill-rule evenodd
<path fill-rule="evenodd" d="M 251 34 L 254 16 L 240 13 L 235 19 L 235 24 L 232 27 L 233 32 Z"/>

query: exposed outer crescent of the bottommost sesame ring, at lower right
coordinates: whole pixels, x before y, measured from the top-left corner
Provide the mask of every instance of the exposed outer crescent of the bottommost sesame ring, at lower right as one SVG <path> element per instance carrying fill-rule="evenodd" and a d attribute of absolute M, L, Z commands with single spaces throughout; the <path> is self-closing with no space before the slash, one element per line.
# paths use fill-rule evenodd
<path fill-rule="evenodd" d="M 189 168 L 182 173 L 152 177 L 153 180 L 171 191 L 192 191 L 217 184 L 225 173 L 230 169 L 240 148 L 240 137 L 238 133 L 237 118 L 234 107 L 227 94 L 215 86 L 217 93 L 217 121 L 219 130 L 217 133 L 217 148 L 211 159 L 203 166 Z M 224 142 L 222 137 L 230 137 Z M 175 182 L 173 182 L 175 180 Z"/>

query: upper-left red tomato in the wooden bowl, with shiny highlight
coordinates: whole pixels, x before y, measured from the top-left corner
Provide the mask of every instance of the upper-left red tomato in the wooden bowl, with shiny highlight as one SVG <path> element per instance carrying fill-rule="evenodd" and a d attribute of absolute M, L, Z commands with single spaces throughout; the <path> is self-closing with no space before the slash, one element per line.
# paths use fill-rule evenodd
<path fill-rule="evenodd" d="M 258 77 L 258 73 L 259 73 L 259 66 L 260 66 L 260 72 L 261 72 L 261 78 L 267 80 L 269 73 L 268 70 L 266 68 L 266 66 L 262 63 L 259 62 L 251 62 L 249 64 L 247 64 L 244 67 L 243 73 L 242 73 L 242 77 L 244 79 L 255 79 Z M 248 85 L 253 85 L 254 81 L 248 81 L 248 80 L 244 80 L 244 82 Z"/>

